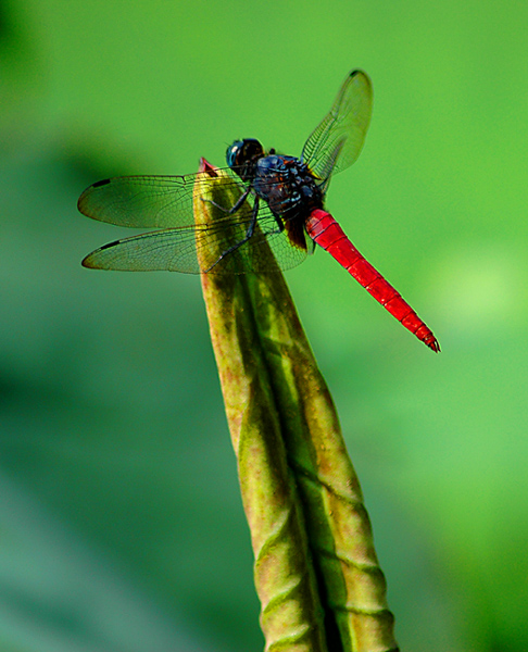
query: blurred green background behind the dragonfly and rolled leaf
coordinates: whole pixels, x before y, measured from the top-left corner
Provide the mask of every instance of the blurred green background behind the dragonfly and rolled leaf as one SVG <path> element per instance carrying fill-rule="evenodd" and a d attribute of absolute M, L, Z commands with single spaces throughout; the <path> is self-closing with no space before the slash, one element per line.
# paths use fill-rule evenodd
<path fill-rule="evenodd" d="M 199 279 L 80 267 L 89 184 L 255 137 L 368 72 L 328 206 L 433 355 L 318 251 L 288 273 L 405 652 L 528 650 L 528 4 L 0 3 L 0 650 L 263 647 Z"/>

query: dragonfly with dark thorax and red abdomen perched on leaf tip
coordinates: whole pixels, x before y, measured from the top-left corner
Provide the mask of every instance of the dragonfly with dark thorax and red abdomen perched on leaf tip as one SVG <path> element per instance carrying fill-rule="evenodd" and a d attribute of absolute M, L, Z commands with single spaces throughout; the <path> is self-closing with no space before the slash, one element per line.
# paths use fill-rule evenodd
<path fill-rule="evenodd" d="M 89 186 L 78 200 L 84 215 L 158 230 L 104 244 L 87 255 L 83 265 L 141 272 L 264 273 L 268 259 L 259 255 L 263 244 L 272 249 L 284 269 L 301 263 L 318 244 L 405 328 L 439 352 L 432 331 L 324 206 L 331 177 L 360 155 L 372 108 L 370 79 L 354 70 L 304 143 L 300 158 L 279 154 L 275 149 L 265 151 L 254 138 L 236 140 L 227 149 L 225 170 L 229 177 L 226 183 L 232 185 L 238 200 L 221 206 L 201 198 L 221 209 L 221 217 L 208 226 L 197 224 L 194 217 L 197 174 L 123 176 Z M 206 184 L 203 174 L 200 183 Z M 204 255 L 211 249 L 219 254 Z"/>

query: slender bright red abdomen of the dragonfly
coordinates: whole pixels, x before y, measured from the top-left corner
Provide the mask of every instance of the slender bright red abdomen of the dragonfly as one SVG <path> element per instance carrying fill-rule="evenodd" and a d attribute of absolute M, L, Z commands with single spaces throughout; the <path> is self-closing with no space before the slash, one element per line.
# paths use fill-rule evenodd
<path fill-rule="evenodd" d="M 330 213 L 316 209 L 306 221 L 309 236 L 328 251 L 392 316 L 433 351 L 440 344 L 402 296 L 352 244 Z"/>

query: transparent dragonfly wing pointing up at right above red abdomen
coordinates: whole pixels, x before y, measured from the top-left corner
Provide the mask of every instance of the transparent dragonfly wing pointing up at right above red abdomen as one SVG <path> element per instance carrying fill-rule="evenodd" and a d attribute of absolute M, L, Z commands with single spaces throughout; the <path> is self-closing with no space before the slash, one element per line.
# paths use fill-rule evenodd
<path fill-rule="evenodd" d="M 326 191 L 330 175 L 342 172 L 360 155 L 373 111 L 370 79 L 353 71 L 344 80 L 329 113 L 313 130 L 302 150 L 302 161 L 323 179 Z"/>

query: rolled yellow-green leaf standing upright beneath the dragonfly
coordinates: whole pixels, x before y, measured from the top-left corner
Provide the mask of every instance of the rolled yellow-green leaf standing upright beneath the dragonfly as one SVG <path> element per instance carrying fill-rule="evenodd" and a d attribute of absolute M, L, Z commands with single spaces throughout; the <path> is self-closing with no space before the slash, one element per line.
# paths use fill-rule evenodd
<path fill-rule="evenodd" d="M 217 205 L 234 205 L 240 193 L 223 171 L 205 161 L 200 170 L 208 183 L 197 183 L 194 215 L 211 224 L 225 217 Z M 250 216 L 249 205 L 241 210 Z M 260 249 L 269 274 L 204 274 L 202 287 L 266 651 L 395 651 L 385 577 L 331 397 L 275 259 Z"/>

